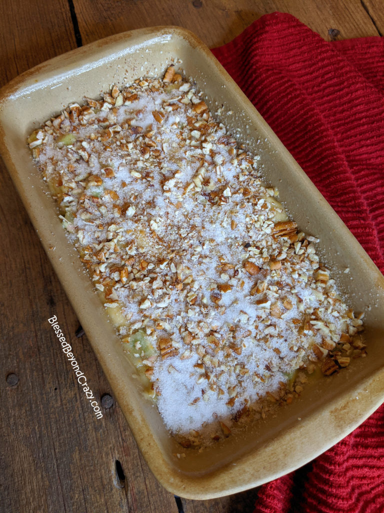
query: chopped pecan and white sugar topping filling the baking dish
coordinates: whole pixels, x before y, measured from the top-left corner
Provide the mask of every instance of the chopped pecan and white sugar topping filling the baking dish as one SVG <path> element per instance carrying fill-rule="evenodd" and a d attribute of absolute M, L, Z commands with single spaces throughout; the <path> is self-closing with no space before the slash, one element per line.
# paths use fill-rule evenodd
<path fill-rule="evenodd" d="M 365 356 L 349 309 L 250 154 L 170 66 L 28 139 L 125 352 L 184 446 Z"/>

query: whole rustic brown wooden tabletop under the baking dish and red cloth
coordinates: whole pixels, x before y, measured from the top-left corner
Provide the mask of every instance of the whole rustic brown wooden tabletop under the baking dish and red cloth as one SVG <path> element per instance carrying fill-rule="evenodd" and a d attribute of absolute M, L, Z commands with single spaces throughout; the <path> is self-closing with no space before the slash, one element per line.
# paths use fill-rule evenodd
<path fill-rule="evenodd" d="M 48 58 L 135 28 L 179 25 L 215 47 L 282 11 L 330 40 L 382 35 L 382 7 L 380 0 L 3 1 L 0 86 Z M 253 511 L 257 489 L 192 501 L 158 484 L 86 336 L 76 336 L 76 314 L 1 160 L 0 212 L 0 512 Z M 100 420 L 57 346 L 47 321 L 53 311 L 102 405 Z"/>

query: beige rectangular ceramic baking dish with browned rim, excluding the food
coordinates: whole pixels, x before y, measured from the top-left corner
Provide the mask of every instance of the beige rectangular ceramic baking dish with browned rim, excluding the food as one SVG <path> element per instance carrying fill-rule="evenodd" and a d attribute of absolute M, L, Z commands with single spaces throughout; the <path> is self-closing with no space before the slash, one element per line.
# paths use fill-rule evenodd
<path fill-rule="evenodd" d="M 69 103 L 80 103 L 83 96 L 99 97 L 111 84 L 121 87 L 138 76 L 159 76 L 171 60 L 204 91 L 213 111 L 224 106 L 220 119 L 240 142 L 261 155 L 265 180 L 279 187 L 300 229 L 321 240 L 319 252 L 334 269 L 354 310 L 366 312 L 367 358 L 355 360 L 335 376 L 311 382 L 301 398 L 281 407 L 276 417 L 201 453 L 181 448 L 168 435 L 156 408 L 142 398 L 132 377 L 134 369 L 122 357 L 120 342 L 66 238 L 26 144 L 33 129 Z M 126 32 L 33 68 L 0 91 L 0 139 L 12 179 L 135 439 L 169 491 L 207 499 L 258 486 L 315 458 L 384 401 L 384 278 L 195 35 L 175 27 Z M 340 272 L 346 267 L 348 274 Z M 180 452 L 185 458 L 175 456 Z"/>

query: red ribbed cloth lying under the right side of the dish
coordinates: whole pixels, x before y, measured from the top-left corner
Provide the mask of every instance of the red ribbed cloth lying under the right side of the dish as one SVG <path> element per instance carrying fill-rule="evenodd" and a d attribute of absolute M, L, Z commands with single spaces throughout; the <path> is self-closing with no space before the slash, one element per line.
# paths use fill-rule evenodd
<path fill-rule="evenodd" d="M 213 52 L 383 272 L 383 39 L 326 42 L 274 13 Z M 262 512 L 383 513 L 384 405 L 322 456 L 263 485 Z"/>

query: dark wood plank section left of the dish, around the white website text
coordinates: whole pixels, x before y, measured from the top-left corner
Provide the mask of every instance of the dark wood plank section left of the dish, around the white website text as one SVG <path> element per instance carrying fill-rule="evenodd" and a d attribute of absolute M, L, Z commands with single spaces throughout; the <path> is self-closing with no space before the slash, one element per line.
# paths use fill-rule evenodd
<path fill-rule="evenodd" d="M 101 406 L 108 382 L 7 173 L 0 174 L 2 462 L 0 511 L 177 512 L 117 404 L 97 419 L 48 318 L 57 315 Z M 15 374 L 16 385 L 7 383 Z M 125 473 L 116 486 L 115 462 Z M 4 508 L 4 509 L 3 509 Z"/>

